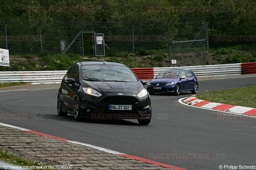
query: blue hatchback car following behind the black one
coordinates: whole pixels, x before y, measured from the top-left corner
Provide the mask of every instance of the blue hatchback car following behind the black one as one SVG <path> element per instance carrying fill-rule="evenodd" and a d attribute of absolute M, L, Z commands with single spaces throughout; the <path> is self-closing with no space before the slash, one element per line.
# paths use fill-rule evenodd
<path fill-rule="evenodd" d="M 198 82 L 191 70 L 165 70 L 148 82 L 147 90 L 150 94 L 174 92 L 179 95 L 184 91 L 197 93 Z"/>

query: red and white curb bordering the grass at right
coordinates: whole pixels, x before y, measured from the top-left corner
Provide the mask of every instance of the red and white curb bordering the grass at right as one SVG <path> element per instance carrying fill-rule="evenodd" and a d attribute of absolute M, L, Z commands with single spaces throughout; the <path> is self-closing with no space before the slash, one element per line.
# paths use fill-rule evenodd
<path fill-rule="evenodd" d="M 179 102 L 182 104 L 186 103 L 190 106 L 203 107 L 206 109 L 218 110 L 218 111 L 228 112 L 232 114 L 256 116 L 255 108 L 204 101 L 204 100 L 197 99 L 195 95 L 190 96 L 188 98 L 182 98 L 179 100 Z"/>

